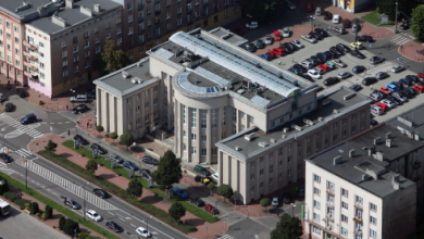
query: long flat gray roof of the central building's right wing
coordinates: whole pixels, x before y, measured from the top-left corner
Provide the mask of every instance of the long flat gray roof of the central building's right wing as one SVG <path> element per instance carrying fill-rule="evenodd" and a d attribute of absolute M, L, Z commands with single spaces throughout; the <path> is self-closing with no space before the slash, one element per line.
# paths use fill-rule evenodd
<path fill-rule="evenodd" d="M 320 99 L 317 99 L 317 106 L 316 110 L 305 113 L 298 118 L 295 118 L 294 121 L 286 122 L 285 124 L 272 129 L 270 133 L 264 133 L 257 127 L 246 129 L 244 131 L 240 131 L 236 135 L 233 135 L 220 142 L 216 143 L 221 149 L 230 151 L 234 154 L 237 154 L 241 159 L 249 159 L 263 150 L 267 150 L 269 147 L 273 147 L 273 144 L 278 142 L 284 142 L 285 140 L 288 140 L 292 137 L 300 136 L 303 134 L 307 134 L 308 131 L 313 130 L 314 128 L 321 127 L 323 124 L 326 124 L 327 121 L 333 120 L 333 117 L 345 114 L 346 112 L 352 111 L 353 108 L 362 106 L 364 104 L 370 103 L 370 100 L 360 95 L 357 93 L 353 98 L 349 100 L 344 100 L 344 97 L 353 92 L 352 90 L 341 87 L 336 88 L 335 91 L 328 92 L 328 95 L 322 96 Z M 332 103 L 327 105 L 323 105 L 323 102 L 326 100 L 331 100 Z M 335 114 L 334 110 L 338 110 L 339 113 Z M 323 120 L 320 122 L 319 117 L 322 117 Z M 310 126 L 308 125 L 304 120 L 310 120 L 314 122 L 314 125 Z M 302 130 L 296 130 L 291 128 L 291 125 L 295 124 L 297 126 L 302 127 Z M 283 133 L 283 128 L 289 128 L 288 133 Z M 255 133 L 255 138 L 251 141 L 248 141 L 245 139 L 245 135 L 250 133 Z M 282 138 L 282 136 L 285 135 L 285 138 Z M 271 139 L 276 139 L 277 142 L 271 143 Z M 263 148 L 259 146 L 258 143 L 260 141 L 269 142 L 270 146 Z M 239 147 L 239 150 L 236 151 L 235 148 Z"/>

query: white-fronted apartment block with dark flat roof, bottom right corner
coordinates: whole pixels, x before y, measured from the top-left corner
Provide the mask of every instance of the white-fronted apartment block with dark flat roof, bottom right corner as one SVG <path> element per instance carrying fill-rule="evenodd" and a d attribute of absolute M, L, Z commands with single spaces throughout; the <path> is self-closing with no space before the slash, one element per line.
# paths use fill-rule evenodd
<path fill-rule="evenodd" d="M 407 144 L 414 140 L 404 141 L 391 127 L 376 130 L 383 129 L 392 133 L 391 141 L 377 151 L 411 149 Z M 347 140 L 305 160 L 303 230 L 309 238 L 390 239 L 414 231 L 416 184 L 391 171 L 382 155 L 370 156 L 359 142 Z"/>

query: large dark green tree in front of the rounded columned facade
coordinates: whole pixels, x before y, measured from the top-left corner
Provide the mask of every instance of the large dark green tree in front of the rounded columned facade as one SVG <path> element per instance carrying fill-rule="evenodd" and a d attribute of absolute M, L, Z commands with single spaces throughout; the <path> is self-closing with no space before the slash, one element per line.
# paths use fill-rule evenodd
<path fill-rule="evenodd" d="M 158 169 L 151 174 L 155 181 L 163 190 L 166 186 L 179 183 L 183 177 L 182 160 L 167 150 L 158 164 Z"/>

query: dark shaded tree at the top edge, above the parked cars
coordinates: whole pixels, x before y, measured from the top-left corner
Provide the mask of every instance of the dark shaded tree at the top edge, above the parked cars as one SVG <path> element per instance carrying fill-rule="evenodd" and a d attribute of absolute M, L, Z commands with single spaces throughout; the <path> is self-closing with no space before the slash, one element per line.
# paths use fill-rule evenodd
<path fill-rule="evenodd" d="M 270 21 L 279 14 L 277 0 L 249 0 L 246 5 L 248 14 L 260 21 Z"/>

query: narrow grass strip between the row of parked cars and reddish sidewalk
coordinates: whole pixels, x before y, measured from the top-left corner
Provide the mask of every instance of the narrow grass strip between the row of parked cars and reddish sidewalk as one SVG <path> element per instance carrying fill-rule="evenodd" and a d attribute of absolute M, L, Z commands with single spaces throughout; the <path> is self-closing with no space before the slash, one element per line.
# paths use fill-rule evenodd
<path fill-rule="evenodd" d="M 87 148 L 84 148 L 84 147 L 79 147 L 79 149 L 75 150 L 73 140 L 66 140 L 66 141 L 62 142 L 62 144 L 64 147 L 67 147 L 71 150 L 74 150 L 74 151 L 78 152 L 79 154 L 84 154 L 84 156 L 87 156 L 88 159 L 92 160 L 92 151 L 87 149 Z M 111 169 L 111 171 L 113 171 L 115 173 L 120 173 L 122 176 L 126 177 L 127 179 L 130 179 L 129 178 L 129 171 L 124 168 L 124 167 L 122 167 L 121 165 L 116 165 L 115 168 L 112 168 L 111 167 L 111 161 L 105 159 L 105 158 L 103 158 L 103 156 L 101 156 L 101 155 L 100 156 L 98 155 L 98 158 L 95 159 L 95 161 L 97 163 L 103 164 L 104 167 L 107 167 L 107 168 L 109 168 L 109 169 Z M 67 161 L 67 162 L 70 162 L 70 161 Z M 70 163 L 72 163 L 72 162 L 70 162 Z M 85 169 L 84 169 L 84 172 L 85 172 Z M 147 179 L 145 179 L 142 177 L 139 177 L 139 176 L 136 176 L 136 178 L 137 178 L 137 180 L 139 180 L 142 184 L 144 188 L 149 188 L 149 183 L 148 183 Z M 213 216 L 212 214 L 205 212 L 203 209 L 197 207 L 196 205 L 194 205 L 194 204 L 191 204 L 191 203 L 189 203 L 189 202 L 187 202 L 185 200 L 180 200 L 177 197 L 173 197 L 172 199 L 169 199 L 166 192 L 162 191 L 161 189 L 159 189 L 157 187 L 152 187 L 149 190 L 152 191 L 152 192 L 158 193 L 159 197 L 161 197 L 164 200 L 167 200 L 170 202 L 178 201 L 179 203 L 182 203 L 184 205 L 184 207 L 186 207 L 186 210 L 188 212 L 192 213 L 194 215 L 198 216 L 199 218 L 204 219 L 208 223 L 215 223 L 215 222 L 220 221 L 219 217 Z"/>

